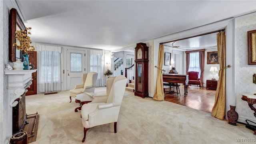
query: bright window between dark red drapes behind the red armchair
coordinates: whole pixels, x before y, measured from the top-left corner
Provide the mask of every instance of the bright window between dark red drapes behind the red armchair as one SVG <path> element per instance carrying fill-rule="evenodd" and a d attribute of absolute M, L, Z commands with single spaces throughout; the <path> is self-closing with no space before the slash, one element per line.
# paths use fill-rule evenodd
<path fill-rule="evenodd" d="M 201 75 L 201 70 L 199 66 L 199 52 L 190 52 L 189 53 L 189 67 L 188 71 L 195 71 L 198 73 L 198 78 Z"/>

